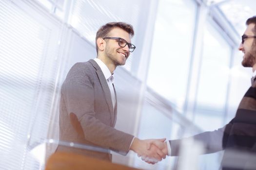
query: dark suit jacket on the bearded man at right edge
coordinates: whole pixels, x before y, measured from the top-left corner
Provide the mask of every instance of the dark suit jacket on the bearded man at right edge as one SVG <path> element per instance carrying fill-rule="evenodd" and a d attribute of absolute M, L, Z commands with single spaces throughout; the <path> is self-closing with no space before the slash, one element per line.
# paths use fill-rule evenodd
<path fill-rule="evenodd" d="M 202 142 L 205 153 L 225 150 L 222 159 L 223 170 L 249 170 L 248 167 L 254 166 L 256 170 L 256 160 L 250 158 L 251 155 L 256 156 L 256 80 L 241 100 L 234 119 L 216 131 L 204 132 L 182 140 L 190 138 Z M 171 155 L 178 155 L 181 140 L 170 140 L 169 142 Z M 234 156 L 234 152 L 241 153 L 243 156 Z M 244 156 L 243 153 L 247 153 L 247 156 Z M 228 167 L 238 161 L 239 167 Z"/>

